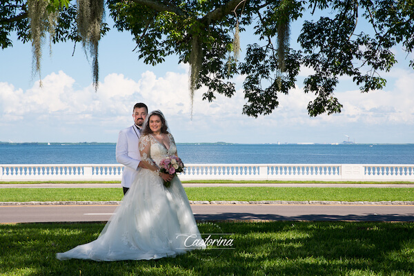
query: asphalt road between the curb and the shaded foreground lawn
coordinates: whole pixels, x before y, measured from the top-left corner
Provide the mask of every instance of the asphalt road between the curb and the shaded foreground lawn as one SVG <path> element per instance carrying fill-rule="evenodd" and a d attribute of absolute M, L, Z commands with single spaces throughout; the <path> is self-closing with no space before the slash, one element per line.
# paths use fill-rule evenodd
<path fill-rule="evenodd" d="M 0 206 L 0 223 L 103 222 L 117 205 Z M 196 220 L 414 222 L 414 205 L 193 204 Z"/>

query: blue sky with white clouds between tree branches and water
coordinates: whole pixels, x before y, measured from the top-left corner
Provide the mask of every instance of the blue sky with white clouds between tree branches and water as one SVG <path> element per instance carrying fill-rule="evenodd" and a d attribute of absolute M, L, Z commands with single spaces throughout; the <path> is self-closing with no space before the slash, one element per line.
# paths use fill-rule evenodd
<path fill-rule="evenodd" d="M 110 27 L 112 23 L 107 19 Z M 292 25 L 293 45 L 299 23 Z M 242 33 L 243 45 L 252 43 Z M 147 103 L 166 115 L 177 142 L 359 143 L 414 142 L 414 71 L 408 67 L 413 54 L 393 51 L 400 61 L 382 73 L 387 86 L 361 94 L 349 78 L 342 78 L 335 96 L 344 105 L 341 114 L 310 118 L 306 111 L 313 95 L 304 94 L 301 70 L 297 87 L 281 95 L 279 108 L 268 116 L 242 114 L 245 103 L 237 76 L 233 98 L 217 96 L 213 103 L 195 94 L 191 118 L 188 65 L 172 56 L 152 67 L 132 52 L 132 36 L 110 30 L 99 44 L 99 90 L 92 88 L 90 65 L 80 44 L 43 46 L 41 78 L 32 76 L 30 44 L 14 39 L 14 47 L 0 52 L 0 141 L 3 142 L 116 142 L 119 129 L 132 125 L 132 106 Z M 73 56 L 72 56 L 72 53 Z M 243 54 L 243 52 L 242 52 Z"/>

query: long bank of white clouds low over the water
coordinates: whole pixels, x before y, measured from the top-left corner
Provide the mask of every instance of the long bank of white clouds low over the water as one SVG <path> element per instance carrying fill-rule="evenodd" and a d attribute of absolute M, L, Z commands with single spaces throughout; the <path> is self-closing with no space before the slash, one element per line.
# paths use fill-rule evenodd
<path fill-rule="evenodd" d="M 309 118 L 306 110 L 314 96 L 304 94 L 301 87 L 289 95 L 279 95 L 275 112 L 259 118 L 242 114 L 246 101 L 242 90 L 232 98 L 217 95 L 208 103 L 201 100 L 204 88 L 195 92 L 191 119 L 188 72 L 156 76 L 147 71 L 138 80 L 108 74 L 95 92 L 91 85 L 76 87 L 75 80 L 60 71 L 46 76 L 43 87 L 35 83 L 26 91 L 0 83 L 0 124 L 8 130 L 0 134 L 0 140 L 48 141 L 54 137 L 61 142 L 115 142 L 119 129 L 132 123 L 133 105 L 144 102 L 150 110 L 160 109 L 166 114 L 180 142 L 325 142 L 317 139 L 337 127 L 412 127 L 414 74 L 401 70 L 395 76 L 388 91 L 337 92 L 344 105 L 342 114 L 317 118 Z M 243 78 L 236 81 L 239 87 Z M 30 138 L 37 140 L 29 140 L 27 129 L 33 131 Z"/>

